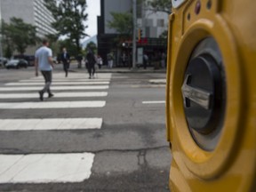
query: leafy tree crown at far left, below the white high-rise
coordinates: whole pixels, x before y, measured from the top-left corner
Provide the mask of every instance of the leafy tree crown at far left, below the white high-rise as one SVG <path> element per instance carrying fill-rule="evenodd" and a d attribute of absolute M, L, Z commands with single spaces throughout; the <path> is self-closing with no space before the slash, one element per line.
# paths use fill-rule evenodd
<path fill-rule="evenodd" d="M 11 18 L 10 23 L 2 21 L 1 34 L 3 36 L 3 44 L 6 52 L 17 50 L 20 54 L 26 52 L 29 45 L 36 45 L 36 27 L 25 23 L 18 18 Z"/>

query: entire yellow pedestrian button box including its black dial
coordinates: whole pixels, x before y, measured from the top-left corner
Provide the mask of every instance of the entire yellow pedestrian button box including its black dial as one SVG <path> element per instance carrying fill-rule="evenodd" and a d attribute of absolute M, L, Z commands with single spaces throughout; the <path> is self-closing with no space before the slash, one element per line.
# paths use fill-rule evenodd
<path fill-rule="evenodd" d="M 256 191 L 256 1 L 172 5 L 166 88 L 172 192 Z"/>

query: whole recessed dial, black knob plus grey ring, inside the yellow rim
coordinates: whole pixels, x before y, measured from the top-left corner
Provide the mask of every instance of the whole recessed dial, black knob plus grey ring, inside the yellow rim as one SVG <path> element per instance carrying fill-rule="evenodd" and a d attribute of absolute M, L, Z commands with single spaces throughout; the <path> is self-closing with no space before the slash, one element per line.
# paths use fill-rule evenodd
<path fill-rule="evenodd" d="M 207 151 L 217 147 L 225 119 L 224 66 L 219 45 L 209 36 L 191 52 L 181 87 L 189 132 Z"/>

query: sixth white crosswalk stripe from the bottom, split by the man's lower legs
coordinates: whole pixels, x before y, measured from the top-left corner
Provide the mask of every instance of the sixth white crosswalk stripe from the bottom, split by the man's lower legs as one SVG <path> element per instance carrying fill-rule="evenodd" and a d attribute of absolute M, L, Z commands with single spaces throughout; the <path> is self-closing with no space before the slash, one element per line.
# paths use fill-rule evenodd
<path fill-rule="evenodd" d="M 82 84 L 109 84 L 109 82 L 53 82 L 52 85 L 69 85 L 69 84 L 76 84 L 76 85 L 82 85 Z M 6 86 L 29 86 L 29 85 L 44 85 L 44 82 L 29 82 L 29 83 L 7 83 L 4 84 Z"/>

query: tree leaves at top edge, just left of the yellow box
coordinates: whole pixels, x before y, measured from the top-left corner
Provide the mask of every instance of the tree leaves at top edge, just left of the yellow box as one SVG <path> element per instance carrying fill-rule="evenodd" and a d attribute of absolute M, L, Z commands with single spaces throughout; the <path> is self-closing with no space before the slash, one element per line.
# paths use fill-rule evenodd
<path fill-rule="evenodd" d="M 172 13 L 172 0 L 150 0 L 148 5 L 153 12 Z"/>

